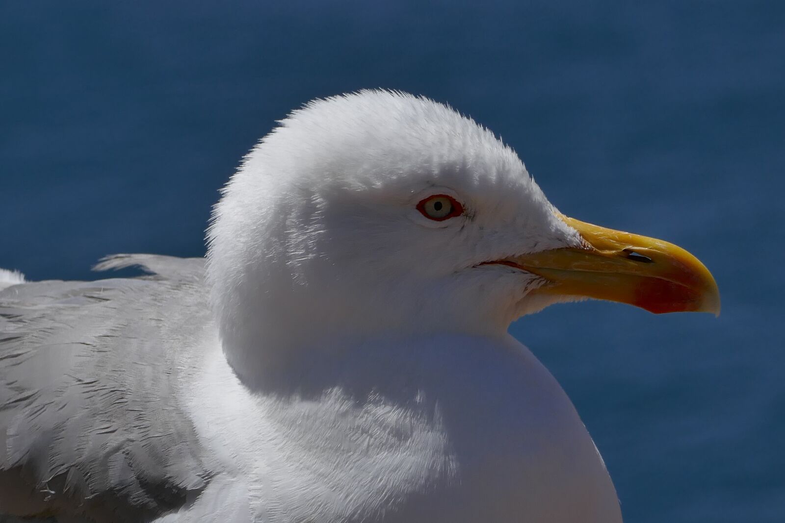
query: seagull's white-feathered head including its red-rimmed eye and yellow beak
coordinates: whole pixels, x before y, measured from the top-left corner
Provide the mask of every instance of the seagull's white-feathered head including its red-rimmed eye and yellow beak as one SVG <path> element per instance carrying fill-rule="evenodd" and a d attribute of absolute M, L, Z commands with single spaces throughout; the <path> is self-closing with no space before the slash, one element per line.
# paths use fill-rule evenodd
<path fill-rule="evenodd" d="M 323 340 L 502 336 L 561 301 L 719 311 L 694 256 L 564 216 L 493 133 L 405 93 L 316 100 L 279 122 L 225 187 L 208 241 L 240 374 Z"/>

